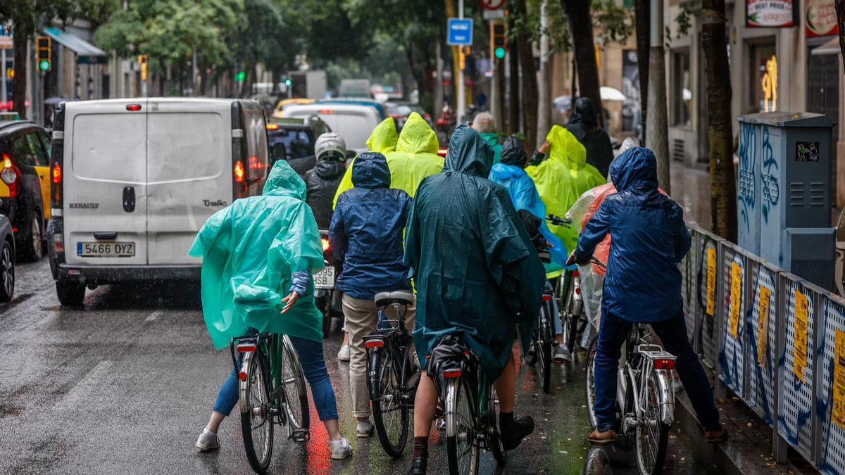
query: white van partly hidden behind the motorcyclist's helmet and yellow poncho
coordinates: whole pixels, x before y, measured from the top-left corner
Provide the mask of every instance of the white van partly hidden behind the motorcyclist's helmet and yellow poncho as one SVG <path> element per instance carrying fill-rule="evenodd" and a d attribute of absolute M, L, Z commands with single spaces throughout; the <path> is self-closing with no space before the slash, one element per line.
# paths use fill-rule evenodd
<path fill-rule="evenodd" d="M 355 153 L 367 151 L 367 139 L 373 133 L 373 128 L 381 122 L 379 111 L 373 106 L 316 102 L 285 109 L 285 117 L 306 119 L 313 115 L 328 124 L 332 132 L 343 138 L 346 148 Z"/>

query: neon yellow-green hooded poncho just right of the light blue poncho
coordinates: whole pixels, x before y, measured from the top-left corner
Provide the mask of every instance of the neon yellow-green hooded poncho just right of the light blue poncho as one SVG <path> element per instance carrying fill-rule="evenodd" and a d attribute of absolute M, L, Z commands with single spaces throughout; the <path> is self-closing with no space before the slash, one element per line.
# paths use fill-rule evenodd
<path fill-rule="evenodd" d="M 537 193 L 546 204 L 546 212 L 562 217 L 581 194 L 604 184 L 605 179 L 596 167 L 587 164 L 584 145 L 569 130 L 555 125 L 546 140 L 552 145 L 548 159 L 540 165 L 526 167 L 526 172 L 537 185 Z M 560 227 L 551 223 L 548 227 L 563 239 L 566 248 L 575 248 L 578 243 L 577 227 Z"/>

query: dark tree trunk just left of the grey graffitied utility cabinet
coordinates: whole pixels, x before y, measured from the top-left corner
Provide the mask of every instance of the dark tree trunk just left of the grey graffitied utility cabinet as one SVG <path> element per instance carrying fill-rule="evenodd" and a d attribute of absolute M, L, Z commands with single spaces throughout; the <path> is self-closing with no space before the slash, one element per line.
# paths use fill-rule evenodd
<path fill-rule="evenodd" d="M 725 0 L 703 0 L 701 19 L 701 44 L 707 77 L 712 228 L 717 235 L 736 243 L 737 199 L 733 177 L 732 93 L 725 38 Z"/>

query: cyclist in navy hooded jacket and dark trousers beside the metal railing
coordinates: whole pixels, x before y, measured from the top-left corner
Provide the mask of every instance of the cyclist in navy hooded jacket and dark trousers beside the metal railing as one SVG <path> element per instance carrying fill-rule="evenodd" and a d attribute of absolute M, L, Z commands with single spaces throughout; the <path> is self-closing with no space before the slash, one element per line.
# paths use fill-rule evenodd
<path fill-rule="evenodd" d="M 690 396 L 708 442 L 727 433 L 719 423 L 701 361 L 690 346 L 684 323 L 679 262 L 690 251 L 690 232 L 680 206 L 657 191 L 657 160 L 651 150 L 635 147 L 610 165 L 618 191 L 608 196 L 587 222 L 570 257 L 590 262 L 593 250 L 609 233 L 613 237 L 602 294 L 602 323 L 596 348 L 597 427 L 595 444 L 616 439 L 616 374 L 622 344 L 634 323 L 647 323 L 677 361 L 675 369 Z"/>

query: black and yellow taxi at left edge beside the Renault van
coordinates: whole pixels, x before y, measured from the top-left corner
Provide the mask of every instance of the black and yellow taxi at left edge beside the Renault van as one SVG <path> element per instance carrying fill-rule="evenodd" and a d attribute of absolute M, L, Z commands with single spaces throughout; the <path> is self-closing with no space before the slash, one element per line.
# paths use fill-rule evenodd
<path fill-rule="evenodd" d="M 34 122 L 0 122 L 0 214 L 12 222 L 20 254 L 44 255 L 50 218 L 50 138 Z"/>

